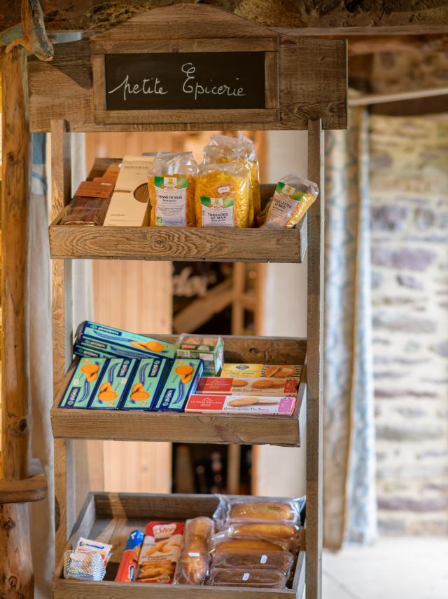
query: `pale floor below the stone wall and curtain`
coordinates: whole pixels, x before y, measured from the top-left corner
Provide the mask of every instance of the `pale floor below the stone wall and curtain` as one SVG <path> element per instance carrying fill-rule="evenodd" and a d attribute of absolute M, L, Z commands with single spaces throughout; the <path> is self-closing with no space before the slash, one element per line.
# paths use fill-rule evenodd
<path fill-rule="evenodd" d="M 323 599 L 448 599 L 448 538 L 381 538 L 323 556 Z"/>

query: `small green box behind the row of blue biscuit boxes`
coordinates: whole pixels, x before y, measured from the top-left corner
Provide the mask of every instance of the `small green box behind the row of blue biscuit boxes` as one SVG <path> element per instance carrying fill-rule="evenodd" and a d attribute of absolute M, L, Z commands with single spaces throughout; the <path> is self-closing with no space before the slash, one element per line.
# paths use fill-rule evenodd
<path fill-rule="evenodd" d="M 204 375 L 219 375 L 223 368 L 224 344 L 221 337 L 190 335 L 183 333 L 176 346 L 178 358 L 202 360 Z"/>

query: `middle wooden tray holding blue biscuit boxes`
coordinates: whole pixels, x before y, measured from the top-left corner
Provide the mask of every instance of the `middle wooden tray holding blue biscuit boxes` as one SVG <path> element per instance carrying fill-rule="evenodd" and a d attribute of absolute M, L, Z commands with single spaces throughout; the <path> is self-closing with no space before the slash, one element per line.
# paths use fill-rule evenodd
<path fill-rule="evenodd" d="M 158 337 L 170 341 L 177 339 L 175 335 Z M 304 364 L 307 351 L 305 339 L 292 337 L 224 336 L 223 339 L 227 362 Z M 52 431 L 55 437 L 293 447 L 302 443 L 307 393 L 305 368 L 292 417 L 58 408 L 76 361 L 77 358 L 67 372 L 51 410 Z"/>

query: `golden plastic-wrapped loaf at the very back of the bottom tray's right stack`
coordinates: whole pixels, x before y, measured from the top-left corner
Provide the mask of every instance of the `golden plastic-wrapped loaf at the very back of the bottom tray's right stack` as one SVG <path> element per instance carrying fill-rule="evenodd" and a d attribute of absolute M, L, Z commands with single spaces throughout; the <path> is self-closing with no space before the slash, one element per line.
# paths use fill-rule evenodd
<path fill-rule="evenodd" d="M 300 505 L 294 499 L 259 499 L 238 497 L 230 499 L 228 521 L 270 520 L 273 522 L 300 522 Z"/>

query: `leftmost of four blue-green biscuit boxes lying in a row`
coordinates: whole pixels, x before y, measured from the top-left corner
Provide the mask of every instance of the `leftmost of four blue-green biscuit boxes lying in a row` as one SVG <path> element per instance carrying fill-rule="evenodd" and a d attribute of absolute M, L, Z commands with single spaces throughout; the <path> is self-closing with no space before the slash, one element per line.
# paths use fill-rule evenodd
<path fill-rule="evenodd" d="M 59 408 L 87 408 L 106 368 L 106 358 L 81 358 L 76 366 Z"/>

